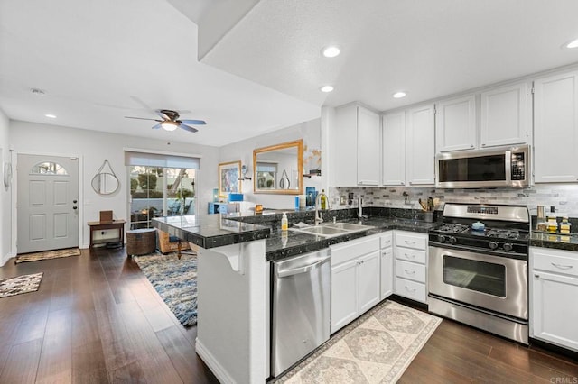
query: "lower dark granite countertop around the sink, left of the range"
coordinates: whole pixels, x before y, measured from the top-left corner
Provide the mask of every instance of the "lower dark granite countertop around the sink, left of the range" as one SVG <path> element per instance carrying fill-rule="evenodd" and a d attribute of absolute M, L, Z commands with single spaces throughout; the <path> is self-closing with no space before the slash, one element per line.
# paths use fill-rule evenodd
<path fill-rule="evenodd" d="M 348 233 L 335 237 L 322 237 L 315 234 L 275 230 L 271 237 L 266 240 L 266 261 L 278 261 L 287 257 L 296 256 L 311 251 L 327 248 L 339 242 L 349 242 L 375 233 L 399 229 L 416 233 L 427 233 L 435 223 L 412 219 L 400 219 L 391 217 L 368 217 L 359 220 L 340 220 L 340 223 L 354 223 L 371 225 L 373 228 L 367 231 Z"/>

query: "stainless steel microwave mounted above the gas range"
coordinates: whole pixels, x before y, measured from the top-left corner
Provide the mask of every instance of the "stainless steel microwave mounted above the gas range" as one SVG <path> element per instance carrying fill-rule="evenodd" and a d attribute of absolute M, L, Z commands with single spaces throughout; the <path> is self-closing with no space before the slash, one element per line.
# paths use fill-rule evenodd
<path fill-rule="evenodd" d="M 453 151 L 435 156 L 435 187 L 528 187 L 530 146 Z"/>

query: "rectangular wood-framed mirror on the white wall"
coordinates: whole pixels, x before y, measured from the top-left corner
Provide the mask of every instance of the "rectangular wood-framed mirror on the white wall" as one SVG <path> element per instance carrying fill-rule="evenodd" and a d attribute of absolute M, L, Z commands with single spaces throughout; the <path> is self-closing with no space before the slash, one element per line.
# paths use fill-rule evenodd
<path fill-rule="evenodd" d="M 303 139 L 253 151 L 255 193 L 303 194 Z"/>

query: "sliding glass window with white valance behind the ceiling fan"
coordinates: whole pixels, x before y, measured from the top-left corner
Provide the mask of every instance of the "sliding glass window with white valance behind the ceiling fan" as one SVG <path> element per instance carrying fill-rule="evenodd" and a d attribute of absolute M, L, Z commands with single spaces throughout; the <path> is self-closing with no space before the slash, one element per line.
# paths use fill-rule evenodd
<path fill-rule="evenodd" d="M 196 214 L 199 159 L 157 154 L 147 157 L 146 153 L 126 151 L 125 160 L 130 178 L 131 229 L 152 228 L 154 217 Z"/>

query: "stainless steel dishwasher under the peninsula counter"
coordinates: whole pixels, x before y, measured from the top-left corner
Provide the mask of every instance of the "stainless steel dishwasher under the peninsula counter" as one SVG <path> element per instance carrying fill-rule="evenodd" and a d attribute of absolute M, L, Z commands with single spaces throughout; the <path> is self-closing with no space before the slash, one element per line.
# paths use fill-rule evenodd
<path fill-rule="evenodd" d="M 272 297 L 271 373 L 275 377 L 329 340 L 329 250 L 275 261 Z"/>

